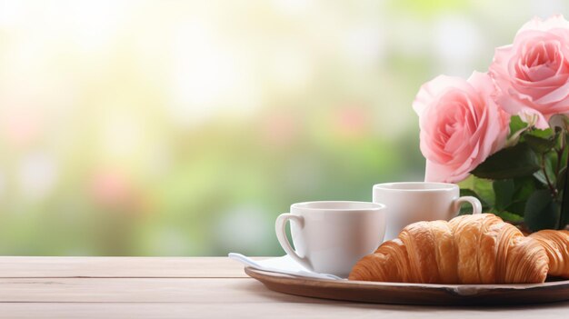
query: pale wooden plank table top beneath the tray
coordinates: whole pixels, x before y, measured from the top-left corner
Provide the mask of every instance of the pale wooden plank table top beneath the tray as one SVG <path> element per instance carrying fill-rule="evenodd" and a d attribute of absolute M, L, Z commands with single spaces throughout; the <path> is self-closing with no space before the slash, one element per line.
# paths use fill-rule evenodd
<path fill-rule="evenodd" d="M 562 318 L 569 303 L 357 304 L 279 294 L 225 257 L 0 257 L 0 318 Z"/>

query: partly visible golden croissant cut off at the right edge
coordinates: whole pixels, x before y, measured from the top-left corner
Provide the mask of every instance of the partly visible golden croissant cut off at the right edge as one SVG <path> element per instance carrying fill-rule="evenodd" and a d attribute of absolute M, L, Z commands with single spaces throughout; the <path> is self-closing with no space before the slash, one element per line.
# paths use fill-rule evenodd
<path fill-rule="evenodd" d="M 569 278 L 569 231 L 543 230 L 530 237 L 537 239 L 545 248 L 549 258 L 549 273 Z"/>

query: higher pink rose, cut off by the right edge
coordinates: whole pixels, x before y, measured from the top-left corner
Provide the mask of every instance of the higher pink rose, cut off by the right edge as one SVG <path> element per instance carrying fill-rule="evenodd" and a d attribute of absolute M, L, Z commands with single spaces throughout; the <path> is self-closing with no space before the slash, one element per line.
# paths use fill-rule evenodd
<path fill-rule="evenodd" d="M 497 102 L 511 115 L 548 127 L 552 115 L 569 113 L 569 22 L 563 15 L 534 18 L 513 45 L 498 47 L 489 68 L 499 87 Z"/>

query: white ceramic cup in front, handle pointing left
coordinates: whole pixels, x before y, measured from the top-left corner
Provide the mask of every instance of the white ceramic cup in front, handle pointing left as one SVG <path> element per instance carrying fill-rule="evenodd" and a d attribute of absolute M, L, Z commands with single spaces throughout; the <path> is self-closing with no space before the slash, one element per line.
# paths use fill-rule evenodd
<path fill-rule="evenodd" d="M 364 255 L 382 243 L 384 204 L 367 202 L 306 202 L 276 218 L 276 238 L 294 261 L 316 273 L 347 277 Z M 291 221 L 294 248 L 285 233 Z"/>

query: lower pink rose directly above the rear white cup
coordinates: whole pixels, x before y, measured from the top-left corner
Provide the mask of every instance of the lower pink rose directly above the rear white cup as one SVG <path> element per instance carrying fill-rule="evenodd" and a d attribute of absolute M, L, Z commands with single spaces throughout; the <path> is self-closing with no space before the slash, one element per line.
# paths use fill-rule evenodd
<path fill-rule="evenodd" d="M 490 76 L 474 72 L 466 81 L 439 75 L 414 100 L 419 115 L 424 180 L 455 183 L 504 147 L 509 115 L 494 102 Z"/>

